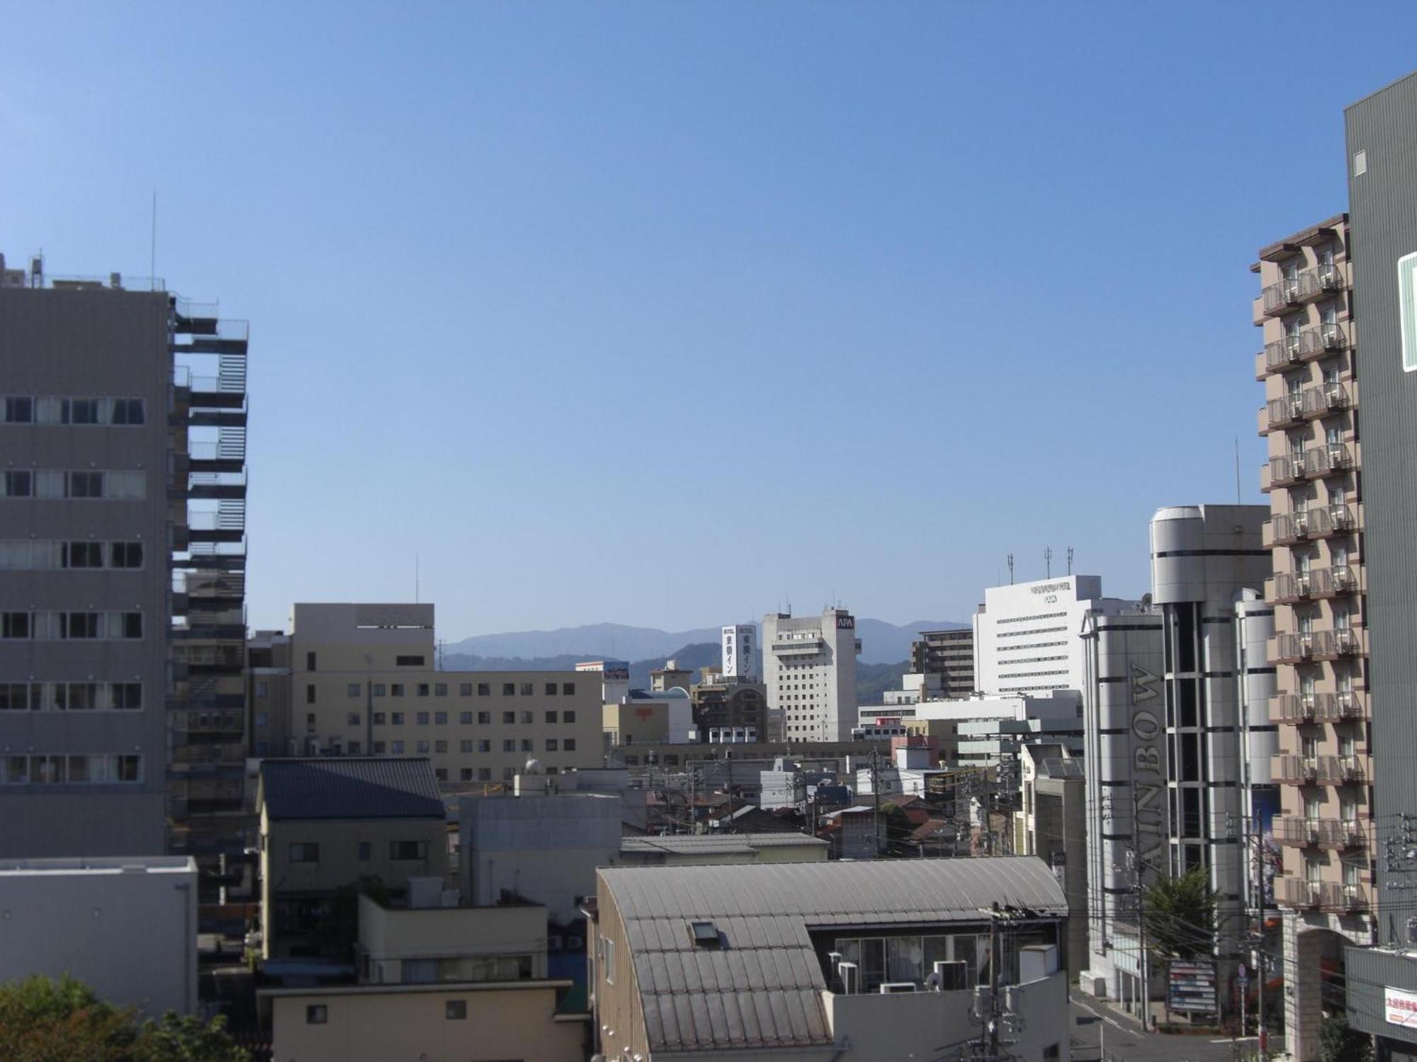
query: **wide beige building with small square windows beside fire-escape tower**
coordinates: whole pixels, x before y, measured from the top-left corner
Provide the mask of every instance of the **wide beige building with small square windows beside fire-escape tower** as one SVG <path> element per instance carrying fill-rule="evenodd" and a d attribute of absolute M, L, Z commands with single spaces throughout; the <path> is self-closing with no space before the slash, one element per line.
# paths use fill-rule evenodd
<path fill-rule="evenodd" d="M 266 755 L 427 756 L 444 784 L 602 763 L 598 677 L 439 671 L 432 605 L 299 603 L 288 643 L 262 632 L 249 653 Z"/>

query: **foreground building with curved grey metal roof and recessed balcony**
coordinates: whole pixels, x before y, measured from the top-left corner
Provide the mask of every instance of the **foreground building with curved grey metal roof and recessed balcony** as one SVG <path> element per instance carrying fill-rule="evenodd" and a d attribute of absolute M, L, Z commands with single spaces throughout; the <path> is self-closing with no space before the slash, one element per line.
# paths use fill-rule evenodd
<path fill-rule="evenodd" d="M 978 1042 L 995 977 L 1009 1056 L 1068 1058 L 1067 902 L 1039 860 L 625 867 L 595 899 L 605 1058 L 939 1058 Z"/>

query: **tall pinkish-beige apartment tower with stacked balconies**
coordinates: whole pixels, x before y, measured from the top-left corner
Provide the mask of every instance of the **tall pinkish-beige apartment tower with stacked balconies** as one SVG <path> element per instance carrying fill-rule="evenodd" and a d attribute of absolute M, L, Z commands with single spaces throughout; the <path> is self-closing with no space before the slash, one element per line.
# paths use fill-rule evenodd
<path fill-rule="evenodd" d="M 1261 487 L 1274 551 L 1277 668 L 1270 718 L 1280 728 L 1274 838 L 1282 848 L 1285 1010 L 1294 1058 L 1318 1048 L 1323 960 L 1372 940 L 1373 838 L 1362 453 L 1348 215 L 1295 232 L 1251 266 L 1264 329 Z"/>

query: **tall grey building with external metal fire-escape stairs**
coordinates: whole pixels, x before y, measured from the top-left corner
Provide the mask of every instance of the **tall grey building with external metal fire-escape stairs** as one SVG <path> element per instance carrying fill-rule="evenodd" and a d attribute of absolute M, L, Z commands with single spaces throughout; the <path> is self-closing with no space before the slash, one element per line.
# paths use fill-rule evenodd
<path fill-rule="evenodd" d="M 0 858 L 213 851 L 187 813 L 241 811 L 244 331 L 0 259 Z"/>

